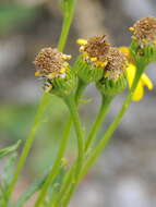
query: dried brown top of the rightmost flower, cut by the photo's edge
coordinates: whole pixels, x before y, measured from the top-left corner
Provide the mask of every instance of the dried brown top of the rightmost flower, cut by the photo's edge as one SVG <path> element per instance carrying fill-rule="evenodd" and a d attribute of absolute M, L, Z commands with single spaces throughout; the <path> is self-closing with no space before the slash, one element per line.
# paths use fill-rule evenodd
<path fill-rule="evenodd" d="M 132 39 L 141 47 L 156 45 L 156 17 L 141 19 L 130 31 L 133 33 Z"/>

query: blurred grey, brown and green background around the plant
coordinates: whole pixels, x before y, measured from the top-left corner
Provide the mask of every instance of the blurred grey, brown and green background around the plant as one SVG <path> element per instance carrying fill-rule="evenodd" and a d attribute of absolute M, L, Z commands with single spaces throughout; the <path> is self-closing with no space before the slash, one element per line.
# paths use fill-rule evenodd
<path fill-rule="evenodd" d="M 101 34 L 108 34 L 113 46 L 128 46 L 131 41 L 128 27 L 140 17 L 156 15 L 155 11 L 155 0 L 79 0 L 65 53 L 76 57 L 76 38 Z M 57 46 L 61 23 L 57 0 L 0 1 L 0 147 L 24 141 L 31 130 L 43 94 L 41 82 L 34 77 L 33 60 L 40 48 Z M 151 65 L 147 73 L 156 85 L 156 64 Z M 156 206 L 155 89 L 146 90 L 142 101 L 131 105 L 111 143 L 77 190 L 71 207 Z M 123 97 L 119 96 L 113 102 L 107 124 Z M 99 94 L 93 85 L 87 88 L 85 98 L 92 98 L 80 109 L 87 129 L 99 105 Z M 64 117 L 68 117 L 64 104 L 51 97 L 46 114 L 48 122 L 37 133 L 15 197 L 52 163 Z M 101 127 L 99 137 L 104 131 Z M 67 153 L 71 160 L 74 146 L 72 132 Z M 0 163 L 0 172 L 3 165 Z"/>

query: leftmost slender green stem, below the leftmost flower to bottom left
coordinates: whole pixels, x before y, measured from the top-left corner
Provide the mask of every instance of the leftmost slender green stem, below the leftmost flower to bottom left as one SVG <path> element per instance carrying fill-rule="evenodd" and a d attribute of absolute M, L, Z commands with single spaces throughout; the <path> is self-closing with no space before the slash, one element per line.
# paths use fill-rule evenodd
<path fill-rule="evenodd" d="M 41 101 L 40 101 L 40 105 L 38 107 L 36 117 L 35 117 L 35 121 L 34 121 L 32 131 L 31 131 L 28 137 L 26 138 L 24 148 L 22 150 L 22 155 L 21 155 L 19 163 L 16 166 L 13 179 L 11 181 L 11 184 L 9 186 L 8 198 L 12 194 L 13 188 L 14 188 L 14 186 L 16 184 L 17 179 L 19 179 L 19 175 L 22 172 L 22 169 L 24 167 L 25 160 L 26 160 L 26 158 L 28 156 L 28 153 L 31 150 L 32 144 L 33 144 L 33 142 L 35 139 L 36 132 L 37 132 L 39 125 L 43 123 L 41 118 L 43 118 L 43 114 L 44 114 L 48 104 L 49 104 L 49 96 L 47 94 L 44 94 L 43 98 L 41 98 Z"/>

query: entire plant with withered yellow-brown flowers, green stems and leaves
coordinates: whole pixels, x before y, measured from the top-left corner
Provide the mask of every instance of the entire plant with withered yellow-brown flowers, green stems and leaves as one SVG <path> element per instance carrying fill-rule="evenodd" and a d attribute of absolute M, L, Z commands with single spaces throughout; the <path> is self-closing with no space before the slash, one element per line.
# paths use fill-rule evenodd
<path fill-rule="evenodd" d="M 106 35 L 91 37 L 87 40 L 77 39 L 80 54 L 71 65 L 69 60 L 72 57 L 64 54 L 62 50 L 67 41 L 74 7 L 74 0 L 62 1 L 64 22 L 58 48 L 44 48 L 35 58 L 35 76 L 41 77 L 45 93 L 33 130 L 26 139 L 13 179 L 8 187 L 7 200 L 2 200 L 4 207 L 9 204 L 22 207 L 36 192 L 39 193 L 35 207 L 68 206 L 79 183 L 110 141 L 131 101 L 139 101 L 143 98 L 144 86 L 147 86 L 148 89 L 153 88 L 153 83 L 144 71 L 151 62 L 156 61 L 156 19 L 144 17 L 130 27 L 132 42 L 129 47 L 112 47 Z M 91 83 L 96 85 L 101 104 L 88 134 L 85 134 L 79 114 L 79 106 L 85 88 Z M 111 102 L 125 88 L 127 95 L 121 109 L 103 137 L 97 141 L 98 131 L 110 111 Z M 58 155 L 48 172 L 33 183 L 16 204 L 12 204 L 10 203 L 11 194 L 41 123 L 45 109 L 48 107 L 49 95 L 59 96 L 70 112 Z M 76 133 L 77 157 L 70 167 L 67 167 L 68 160 L 63 156 L 72 123 Z"/>

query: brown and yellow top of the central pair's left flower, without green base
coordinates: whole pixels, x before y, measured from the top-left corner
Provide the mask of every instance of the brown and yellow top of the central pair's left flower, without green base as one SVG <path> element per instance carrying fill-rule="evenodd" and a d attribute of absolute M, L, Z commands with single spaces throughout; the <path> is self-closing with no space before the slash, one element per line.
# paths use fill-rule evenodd
<path fill-rule="evenodd" d="M 95 68 L 104 68 L 107 64 L 110 45 L 105 35 L 95 36 L 88 40 L 77 39 L 77 44 L 81 45 L 80 51 L 88 64 Z"/>

